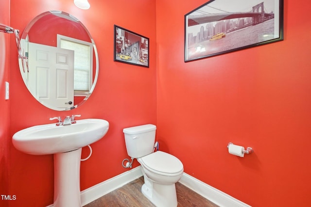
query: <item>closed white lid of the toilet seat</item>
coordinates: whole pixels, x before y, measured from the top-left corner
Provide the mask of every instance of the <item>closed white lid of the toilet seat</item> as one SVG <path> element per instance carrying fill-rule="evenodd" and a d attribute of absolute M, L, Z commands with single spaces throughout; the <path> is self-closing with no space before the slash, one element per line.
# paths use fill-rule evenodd
<path fill-rule="evenodd" d="M 142 157 L 140 161 L 145 167 L 160 173 L 175 174 L 184 170 L 183 163 L 178 158 L 162 151 Z"/>

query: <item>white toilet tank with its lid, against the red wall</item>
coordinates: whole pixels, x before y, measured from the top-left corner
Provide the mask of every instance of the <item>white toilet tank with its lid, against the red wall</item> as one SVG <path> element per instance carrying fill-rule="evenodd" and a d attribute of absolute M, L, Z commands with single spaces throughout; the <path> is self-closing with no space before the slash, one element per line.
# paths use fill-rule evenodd
<path fill-rule="evenodd" d="M 123 129 L 127 154 L 141 158 L 152 153 L 155 145 L 155 129 L 152 124 Z"/>

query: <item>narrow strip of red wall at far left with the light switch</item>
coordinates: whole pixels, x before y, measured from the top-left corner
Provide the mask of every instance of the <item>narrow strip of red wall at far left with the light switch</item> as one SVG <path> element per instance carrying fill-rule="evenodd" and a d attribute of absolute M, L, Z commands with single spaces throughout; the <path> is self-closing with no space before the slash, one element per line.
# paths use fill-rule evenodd
<path fill-rule="evenodd" d="M 0 24 L 10 25 L 9 0 L 1 0 L 0 8 Z M 9 195 L 9 169 L 7 166 L 9 165 L 10 100 L 4 98 L 4 82 L 9 82 L 10 35 L 0 32 L 0 195 Z M 6 205 L 8 205 L 8 202 L 0 198 L 0 206 Z"/>

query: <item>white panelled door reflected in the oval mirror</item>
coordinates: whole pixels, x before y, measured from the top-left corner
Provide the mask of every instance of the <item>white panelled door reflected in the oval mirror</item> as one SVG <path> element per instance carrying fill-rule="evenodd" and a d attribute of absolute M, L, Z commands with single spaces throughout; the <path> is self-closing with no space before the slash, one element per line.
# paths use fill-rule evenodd
<path fill-rule="evenodd" d="M 28 86 L 48 106 L 67 109 L 73 102 L 74 51 L 29 43 Z"/>

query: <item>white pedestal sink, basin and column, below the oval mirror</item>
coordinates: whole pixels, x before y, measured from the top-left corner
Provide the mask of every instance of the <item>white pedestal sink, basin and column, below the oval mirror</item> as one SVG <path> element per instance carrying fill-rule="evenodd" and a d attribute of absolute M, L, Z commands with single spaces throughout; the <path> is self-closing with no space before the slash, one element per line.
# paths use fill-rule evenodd
<path fill-rule="evenodd" d="M 54 207 L 81 207 L 80 161 L 82 147 L 104 137 L 109 123 L 82 119 L 75 124 L 38 125 L 13 135 L 13 145 L 31 155 L 54 154 Z"/>

